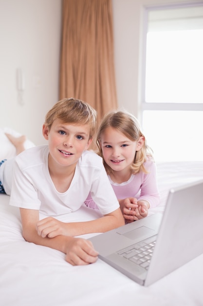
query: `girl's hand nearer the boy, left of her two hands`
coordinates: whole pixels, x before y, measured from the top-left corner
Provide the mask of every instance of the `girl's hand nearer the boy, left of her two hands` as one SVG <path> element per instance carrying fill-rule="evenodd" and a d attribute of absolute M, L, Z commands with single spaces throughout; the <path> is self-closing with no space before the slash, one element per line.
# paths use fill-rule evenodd
<path fill-rule="evenodd" d="M 136 209 L 138 209 L 137 199 L 135 197 L 127 197 L 119 200 L 120 208 L 123 214 L 123 217 L 126 221 L 134 221 L 136 215 Z"/>

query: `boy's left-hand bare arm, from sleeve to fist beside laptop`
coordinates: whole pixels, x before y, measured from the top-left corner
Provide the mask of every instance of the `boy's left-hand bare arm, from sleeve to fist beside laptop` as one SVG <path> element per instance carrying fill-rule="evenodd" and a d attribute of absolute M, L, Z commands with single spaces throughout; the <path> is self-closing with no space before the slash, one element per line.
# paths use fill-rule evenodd
<path fill-rule="evenodd" d="M 59 235 L 55 238 L 42 237 L 37 229 L 38 210 L 20 208 L 22 235 L 28 242 L 44 245 L 66 254 L 66 261 L 72 265 L 84 265 L 96 262 L 98 252 L 94 250 L 91 241 Z"/>

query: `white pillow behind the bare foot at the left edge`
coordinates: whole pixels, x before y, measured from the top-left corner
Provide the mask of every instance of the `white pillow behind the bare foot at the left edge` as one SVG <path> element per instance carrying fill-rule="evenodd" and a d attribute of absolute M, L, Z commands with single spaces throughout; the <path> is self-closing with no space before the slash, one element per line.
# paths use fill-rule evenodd
<path fill-rule="evenodd" d="M 22 135 L 17 131 L 14 131 L 7 127 L 0 128 L 0 161 L 3 159 L 10 159 L 16 156 L 16 148 L 6 137 L 5 133 L 11 134 L 15 137 L 19 137 Z M 29 149 L 35 147 L 35 144 L 27 139 L 24 143 L 24 146 L 25 149 Z"/>

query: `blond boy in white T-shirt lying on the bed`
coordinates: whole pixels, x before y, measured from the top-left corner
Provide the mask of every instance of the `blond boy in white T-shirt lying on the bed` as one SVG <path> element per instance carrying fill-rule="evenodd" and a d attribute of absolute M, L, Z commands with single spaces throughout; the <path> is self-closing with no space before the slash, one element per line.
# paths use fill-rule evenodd
<path fill-rule="evenodd" d="M 87 151 L 95 129 L 92 107 L 73 98 L 61 100 L 45 118 L 42 133 L 48 145 L 26 150 L 14 162 L 10 204 L 20 208 L 24 239 L 64 252 L 73 265 L 95 262 L 98 256 L 91 241 L 74 236 L 124 225 L 102 159 Z M 89 192 L 103 217 L 74 223 L 56 219 L 79 209 Z M 39 212 L 52 217 L 39 220 Z"/>

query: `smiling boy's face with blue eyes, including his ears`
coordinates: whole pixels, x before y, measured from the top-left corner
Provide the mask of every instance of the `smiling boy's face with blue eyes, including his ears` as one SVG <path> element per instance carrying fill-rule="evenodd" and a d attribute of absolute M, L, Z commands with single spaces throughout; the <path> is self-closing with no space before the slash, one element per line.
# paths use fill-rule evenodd
<path fill-rule="evenodd" d="M 89 125 L 63 123 L 55 119 L 51 129 L 43 125 L 43 136 L 49 143 L 49 162 L 57 167 L 75 166 L 92 142 Z"/>

